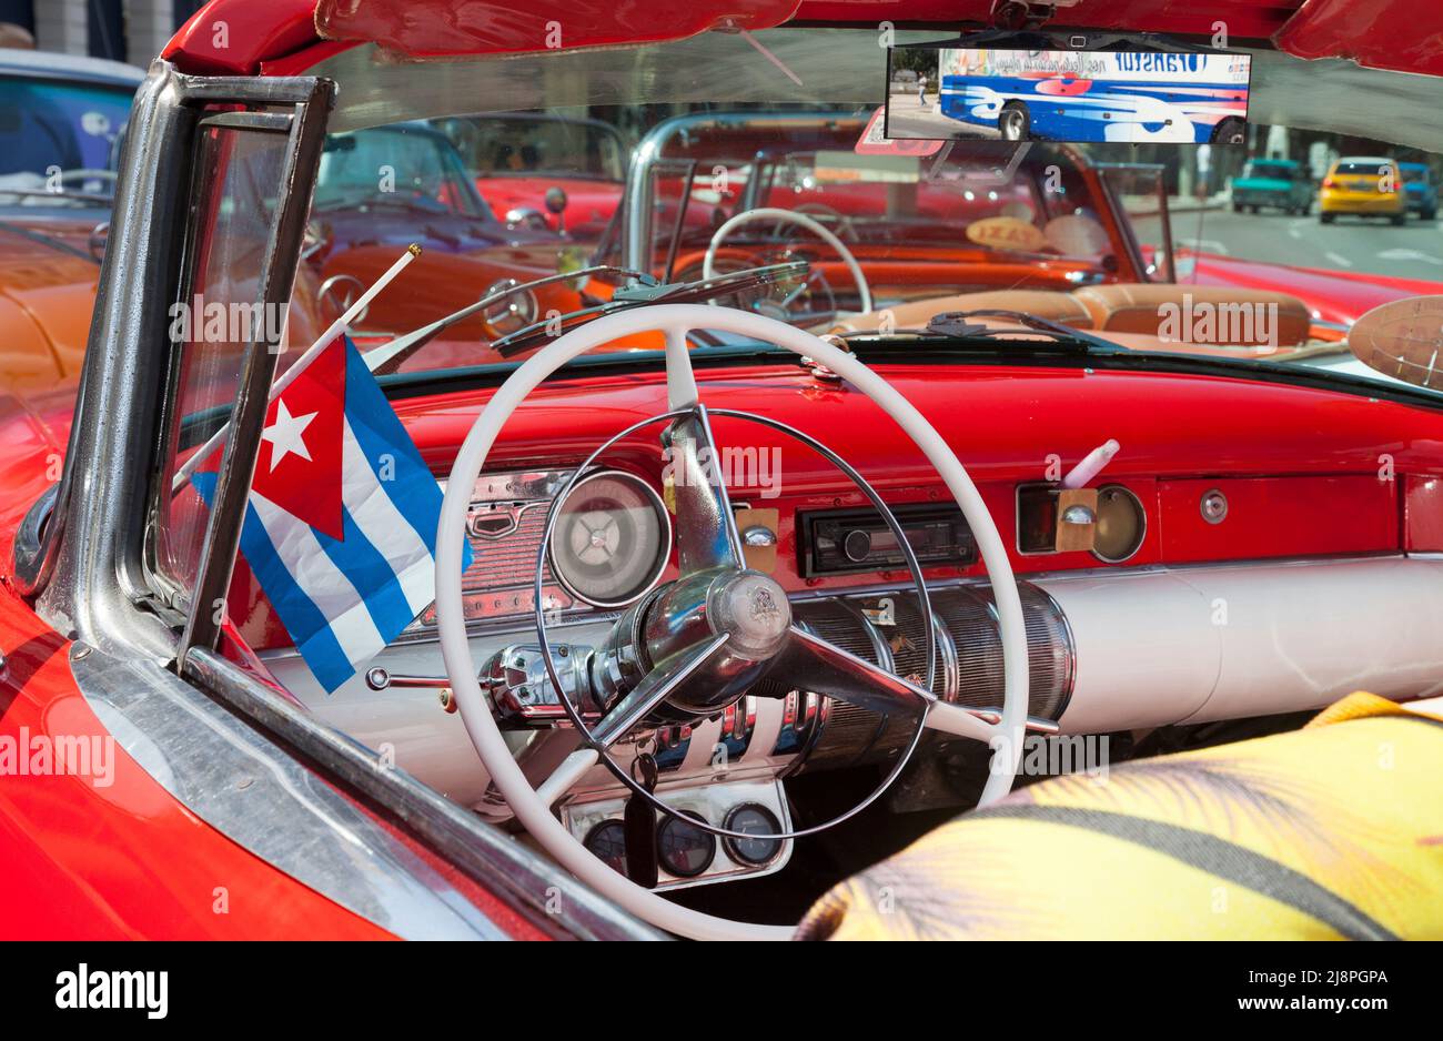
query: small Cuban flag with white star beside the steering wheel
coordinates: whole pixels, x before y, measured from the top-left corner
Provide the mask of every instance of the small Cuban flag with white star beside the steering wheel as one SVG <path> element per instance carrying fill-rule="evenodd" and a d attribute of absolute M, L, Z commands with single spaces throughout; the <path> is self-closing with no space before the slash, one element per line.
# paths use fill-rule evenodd
<path fill-rule="evenodd" d="M 208 503 L 215 480 L 192 477 Z M 440 509 L 436 477 L 349 337 L 271 399 L 241 552 L 328 694 L 436 598 Z"/>

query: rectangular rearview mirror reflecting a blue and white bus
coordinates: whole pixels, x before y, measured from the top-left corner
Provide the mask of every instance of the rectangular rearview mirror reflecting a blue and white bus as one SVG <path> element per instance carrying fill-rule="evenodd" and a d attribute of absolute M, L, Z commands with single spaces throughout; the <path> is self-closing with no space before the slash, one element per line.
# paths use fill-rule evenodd
<path fill-rule="evenodd" d="M 889 138 L 1245 144 L 1251 55 L 983 33 L 887 52 Z"/>

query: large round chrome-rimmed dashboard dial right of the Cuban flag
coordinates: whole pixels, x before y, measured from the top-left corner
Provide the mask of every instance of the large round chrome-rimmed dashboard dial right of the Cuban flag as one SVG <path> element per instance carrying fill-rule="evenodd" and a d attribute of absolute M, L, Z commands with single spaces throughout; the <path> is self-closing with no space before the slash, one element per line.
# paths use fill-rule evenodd
<path fill-rule="evenodd" d="M 619 470 L 583 477 L 561 503 L 551 535 L 551 571 L 593 607 L 622 607 L 661 578 L 671 554 L 671 518 L 652 487 Z"/>

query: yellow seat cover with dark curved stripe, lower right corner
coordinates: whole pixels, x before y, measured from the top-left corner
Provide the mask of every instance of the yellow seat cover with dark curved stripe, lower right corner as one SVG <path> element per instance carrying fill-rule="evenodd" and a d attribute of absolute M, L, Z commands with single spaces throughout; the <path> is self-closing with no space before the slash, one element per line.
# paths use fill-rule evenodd
<path fill-rule="evenodd" d="M 1307 727 L 1072 774 L 848 878 L 802 939 L 1443 937 L 1443 719 Z"/>

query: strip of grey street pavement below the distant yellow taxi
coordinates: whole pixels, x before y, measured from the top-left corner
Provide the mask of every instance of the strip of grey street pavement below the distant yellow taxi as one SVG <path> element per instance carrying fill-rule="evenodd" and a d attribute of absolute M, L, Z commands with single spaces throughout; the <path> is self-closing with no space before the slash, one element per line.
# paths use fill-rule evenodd
<path fill-rule="evenodd" d="M 1133 223 L 1141 242 L 1160 238 L 1157 218 L 1134 218 Z M 1173 239 L 1238 260 L 1443 281 L 1443 225 L 1416 216 L 1394 228 L 1378 218 L 1355 216 L 1325 225 L 1316 206 L 1312 216 L 1206 209 L 1175 215 Z"/>

